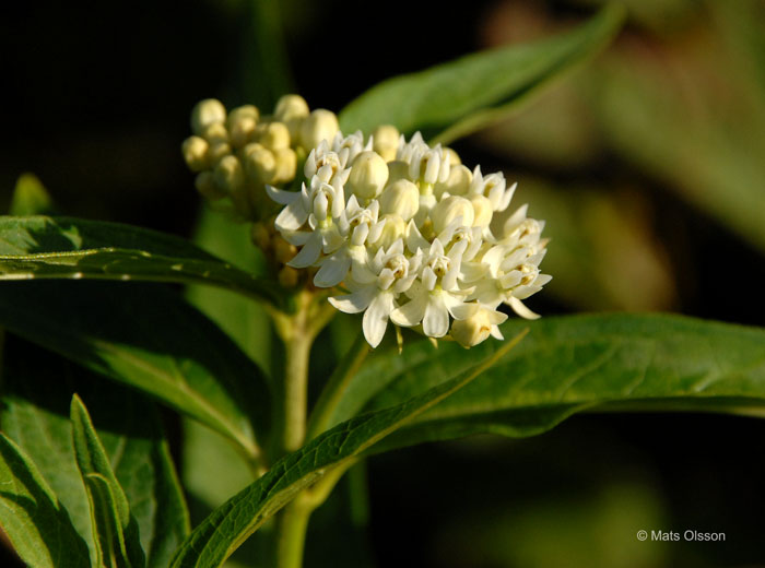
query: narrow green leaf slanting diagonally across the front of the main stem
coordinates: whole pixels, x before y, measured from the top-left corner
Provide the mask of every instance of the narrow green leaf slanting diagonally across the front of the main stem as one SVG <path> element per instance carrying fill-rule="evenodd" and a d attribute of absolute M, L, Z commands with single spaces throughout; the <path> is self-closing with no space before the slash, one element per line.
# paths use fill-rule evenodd
<path fill-rule="evenodd" d="M 174 568 L 213 568 L 225 559 L 299 490 L 323 475 L 346 468 L 365 450 L 407 422 L 463 388 L 520 339 L 505 343 L 499 351 L 449 381 L 390 409 L 364 414 L 344 422 L 308 442 L 279 462 L 260 480 L 215 509 L 178 551 Z M 475 359 L 473 359 L 475 360 Z"/>

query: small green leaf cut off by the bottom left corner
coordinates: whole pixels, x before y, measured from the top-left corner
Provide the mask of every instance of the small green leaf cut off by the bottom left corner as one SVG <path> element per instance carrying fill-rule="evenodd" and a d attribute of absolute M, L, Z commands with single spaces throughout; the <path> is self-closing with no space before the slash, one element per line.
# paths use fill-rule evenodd
<path fill-rule="evenodd" d="M 0 433 L 0 528 L 35 568 L 90 566 L 87 545 L 35 464 Z"/>

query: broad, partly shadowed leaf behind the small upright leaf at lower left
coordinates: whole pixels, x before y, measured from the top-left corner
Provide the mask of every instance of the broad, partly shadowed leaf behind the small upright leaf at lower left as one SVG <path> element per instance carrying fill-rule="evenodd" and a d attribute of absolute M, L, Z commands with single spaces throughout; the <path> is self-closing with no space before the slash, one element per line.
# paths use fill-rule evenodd
<path fill-rule="evenodd" d="M 2 376 L 0 427 L 37 464 L 75 530 L 91 546 L 92 557 L 90 507 L 73 454 L 69 419 L 73 392 L 89 402 L 98 437 L 138 522 L 146 565 L 166 567 L 189 532 L 189 519 L 154 406 L 123 387 L 105 384 L 101 377 L 12 335 L 7 340 Z"/>

